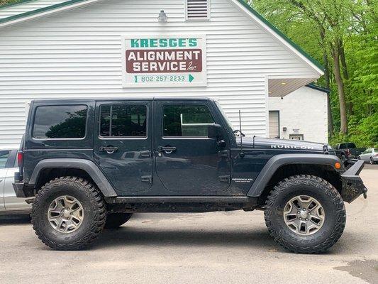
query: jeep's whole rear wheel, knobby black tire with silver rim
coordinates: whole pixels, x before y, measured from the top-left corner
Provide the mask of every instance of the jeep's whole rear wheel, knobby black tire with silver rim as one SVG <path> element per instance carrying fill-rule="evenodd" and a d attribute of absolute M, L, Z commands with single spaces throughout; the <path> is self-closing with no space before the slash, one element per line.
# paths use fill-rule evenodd
<path fill-rule="evenodd" d="M 62 177 L 38 192 L 31 210 L 38 238 L 57 250 L 78 250 L 104 229 L 106 209 L 101 193 L 87 180 Z"/>

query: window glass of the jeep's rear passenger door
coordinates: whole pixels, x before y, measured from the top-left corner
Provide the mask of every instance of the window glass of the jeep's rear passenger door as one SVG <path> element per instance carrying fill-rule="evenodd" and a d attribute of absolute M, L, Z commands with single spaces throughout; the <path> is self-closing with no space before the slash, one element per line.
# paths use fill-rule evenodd
<path fill-rule="evenodd" d="M 101 137 L 146 137 L 147 107 L 137 104 L 102 104 Z"/>

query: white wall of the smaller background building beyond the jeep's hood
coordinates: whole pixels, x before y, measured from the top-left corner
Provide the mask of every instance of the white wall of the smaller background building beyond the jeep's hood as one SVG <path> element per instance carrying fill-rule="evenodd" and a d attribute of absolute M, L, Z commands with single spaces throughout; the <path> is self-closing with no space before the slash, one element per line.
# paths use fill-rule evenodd
<path fill-rule="evenodd" d="M 328 109 L 325 92 L 301 87 L 283 99 L 269 97 L 269 111 L 279 111 L 281 138 L 289 139 L 290 134 L 303 134 L 306 141 L 328 143 Z M 284 127 L 287 131 L 283 131 Z"/>

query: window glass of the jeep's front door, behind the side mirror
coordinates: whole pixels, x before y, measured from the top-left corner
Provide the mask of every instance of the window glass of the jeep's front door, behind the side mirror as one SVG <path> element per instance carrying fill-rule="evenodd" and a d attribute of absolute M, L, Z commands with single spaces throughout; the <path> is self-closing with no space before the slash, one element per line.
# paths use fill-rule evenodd
<path fill-rule="evenodd" d="M 163 136 L 207 137 L 207 126 L 213 124 L 210 109 L 198 105 L 163 107 Z"/>

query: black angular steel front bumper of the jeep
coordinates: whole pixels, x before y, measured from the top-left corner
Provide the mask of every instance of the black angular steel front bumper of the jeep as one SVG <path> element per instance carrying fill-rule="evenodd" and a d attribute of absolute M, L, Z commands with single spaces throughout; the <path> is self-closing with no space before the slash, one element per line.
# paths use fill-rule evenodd
<path fill-rule="evenodd" d="M 362 168 L 364 168 L 364 161 L 350 160 L 348 163 L 352 163 L 352 166 L 341 175 L 341 197 L 343 197 L 344 201 L 350 203 L 360 195 L 364 195 L 366 198 L 367 188 L 359 176 Z"/>

